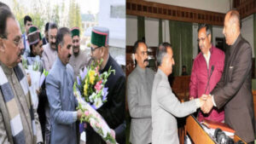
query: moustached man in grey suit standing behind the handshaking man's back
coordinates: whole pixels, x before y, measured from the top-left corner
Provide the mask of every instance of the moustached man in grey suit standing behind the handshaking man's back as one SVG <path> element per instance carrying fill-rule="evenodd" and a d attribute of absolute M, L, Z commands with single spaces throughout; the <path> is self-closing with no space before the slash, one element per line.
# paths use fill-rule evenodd
<path fill-rule="evenodd" d="M 151 92 L 154 71 L 148 66 L 148 47 L 138 40 L 134 44 L 136 68 L 127 79 L 127 99 L 131 114 L 130 142 L 132 144 L 151 143 Z"/>

